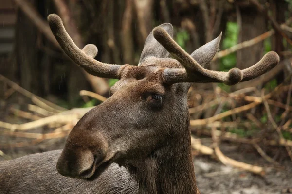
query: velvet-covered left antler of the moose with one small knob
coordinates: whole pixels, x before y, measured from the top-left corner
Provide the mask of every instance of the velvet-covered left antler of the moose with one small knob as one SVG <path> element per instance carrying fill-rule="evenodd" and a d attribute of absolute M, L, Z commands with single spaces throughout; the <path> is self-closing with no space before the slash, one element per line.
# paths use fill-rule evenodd
<path fill-rule="evenodd" d="M 90 50 L 93 52 L 90 54 L 90 56 L 87 56 L 75 45 L 69 34 L 66 32 L 63 22 L 58 15 L 50 14 L 48 16 L 48 23 L 61 48 L 76 64 L 83 67 L 92 75 L 104 78 L 119 79 L 119 69 L 121 65 L 105 64 L 91 58 L 91 56 L 94 55 L 94 49 L 92 49 L 92 46 L 90 46 Z M 89 49 L 89 47 L 85 47 L 84 49 Z"/>

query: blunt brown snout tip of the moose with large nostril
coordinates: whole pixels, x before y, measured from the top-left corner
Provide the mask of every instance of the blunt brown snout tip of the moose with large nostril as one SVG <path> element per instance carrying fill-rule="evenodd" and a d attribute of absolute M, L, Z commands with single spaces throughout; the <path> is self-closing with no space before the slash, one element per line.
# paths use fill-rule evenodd
<path fill-rule="evenodd" d="M 95 171 L 96 163 L 103 156 L 94 155 L 90 150 L 66 150 L 61 153 L 56 164 L 57 171 L 66 177 L 90 178 Z"/>

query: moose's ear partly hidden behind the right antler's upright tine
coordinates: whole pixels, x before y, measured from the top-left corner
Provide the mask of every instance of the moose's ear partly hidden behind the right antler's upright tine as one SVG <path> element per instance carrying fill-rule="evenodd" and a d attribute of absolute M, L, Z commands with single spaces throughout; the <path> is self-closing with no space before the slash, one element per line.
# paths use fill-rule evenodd
<path fill-rule="evenodd" d="M 173 35 L 173 27 L 170 23 L 164 23 L 161 24 L 160 26 L 163 28 L 171 37 Z M 145 44 L 144 44 L 144 49 L 142 51 L 140 60 L 139 60 L 139 65 L 147 58 L 150 56 L 154 56 L 157 58 L 165 58 L 169 55 L 166 49 L 154 38 L 153 36 L 153 31 L 148 35 Z"/>

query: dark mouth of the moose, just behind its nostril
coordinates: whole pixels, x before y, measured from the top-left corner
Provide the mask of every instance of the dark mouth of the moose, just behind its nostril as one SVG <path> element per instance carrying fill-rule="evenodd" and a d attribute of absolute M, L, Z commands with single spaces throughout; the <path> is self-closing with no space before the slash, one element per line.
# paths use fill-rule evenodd
<path fill-rule="evenodd" d="M 100 163 L 97 163 L 98 159 L 95 156 L 94 161 L 91 165 L 91 167 L 85 171 L 83 171 L 79 177 L 82 179 L 87 179 L 87 180 L 94 180 L 98 178 L 112 163 L 112 160 L 108 160 L 106 162 L 102 161 Z"/>

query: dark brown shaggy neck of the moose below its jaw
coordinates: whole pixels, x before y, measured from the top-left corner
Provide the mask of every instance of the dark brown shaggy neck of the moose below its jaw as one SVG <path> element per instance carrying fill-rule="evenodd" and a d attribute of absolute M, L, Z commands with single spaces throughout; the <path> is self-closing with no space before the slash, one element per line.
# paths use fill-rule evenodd
<path fill-rule="evenodd" d="M 163 146 L 153 151 L 146 159 L 126 165 L 139 183 L 139 194 L 200 193 L 196 186 L 191 155 L 187 104 L 180 108 L 183 110 L 178 111 L 171 125 L 173 133 Z"/>

